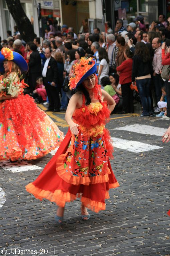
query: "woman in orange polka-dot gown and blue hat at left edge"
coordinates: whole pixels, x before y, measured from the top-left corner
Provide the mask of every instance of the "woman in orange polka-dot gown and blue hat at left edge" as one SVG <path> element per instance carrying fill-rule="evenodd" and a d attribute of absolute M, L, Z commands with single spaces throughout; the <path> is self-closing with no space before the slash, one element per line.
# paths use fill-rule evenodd
<path fill-rule="evenodd" d="M 23 95 L 21 72 L 25 59 L 8 48 L 0 52 L 0 161 L 31 160 L 45 156 L 60 145 L 63 133 L 38 108 L 34 99 Z M 8 85 L 8 86 L 7 86 Z"/>

